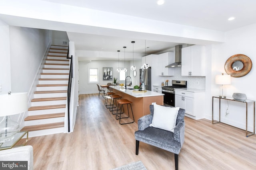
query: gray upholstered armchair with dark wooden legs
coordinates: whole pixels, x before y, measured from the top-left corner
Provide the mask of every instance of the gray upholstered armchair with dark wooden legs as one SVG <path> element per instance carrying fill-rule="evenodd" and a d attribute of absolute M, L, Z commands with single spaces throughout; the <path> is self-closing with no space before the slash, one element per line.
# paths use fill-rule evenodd
<path fill-rule="evenodd" d="M 138 131 L 135 132 L 136 155 L 139 153 L 140 141 L 174 153 L 175 169 L 178 170 L 178 154 L 184 143 L 185 122 L 184 109 L 179 109 L 174 133 L 150 127 L 154 114 L 154 106 L 150 105 L 150 115 L 138 119 Z"/>

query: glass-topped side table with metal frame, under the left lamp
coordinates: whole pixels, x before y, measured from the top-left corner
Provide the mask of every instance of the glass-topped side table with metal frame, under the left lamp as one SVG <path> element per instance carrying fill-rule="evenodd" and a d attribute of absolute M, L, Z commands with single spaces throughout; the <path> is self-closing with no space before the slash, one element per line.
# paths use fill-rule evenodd
<path fill-rule="evenodd" d="M 26 134 L 27 134 L 26 142 L 22 145 L 16 145 L 16 143 L 18 143 L 18 141 L 20 141 L 20 139 L 22 139 L 22 137 L 24 137 Z M 17 132 L 14 136 L 14 139 L 4 142 L 4 143 L 0 143 L 0 150 L 11 149 L 13 147 L 25 146 L 27 142 L 28 142 L 28 131 Z"/>

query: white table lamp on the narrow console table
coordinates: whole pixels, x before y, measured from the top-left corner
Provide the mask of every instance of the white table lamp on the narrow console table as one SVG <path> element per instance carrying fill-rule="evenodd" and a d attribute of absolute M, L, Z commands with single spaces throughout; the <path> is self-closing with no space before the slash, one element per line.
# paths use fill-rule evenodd
<path fill-rule="evenodd" d="M 223 85 L 231 84 L 231 78 L 229 74 L 216 75 L 215 83 L 221 84 L 220 86 L 220 98 L 226 98 L 226 87 Z"/>

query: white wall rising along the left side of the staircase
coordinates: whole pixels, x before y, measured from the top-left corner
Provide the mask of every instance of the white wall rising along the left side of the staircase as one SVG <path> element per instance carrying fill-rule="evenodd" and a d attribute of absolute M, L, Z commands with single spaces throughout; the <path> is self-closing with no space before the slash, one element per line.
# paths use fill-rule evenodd
<path fill-rule="evenodd" d="M 12 92 L 29 92 L 49 43 L 49 31 L 10 26 Z"/>

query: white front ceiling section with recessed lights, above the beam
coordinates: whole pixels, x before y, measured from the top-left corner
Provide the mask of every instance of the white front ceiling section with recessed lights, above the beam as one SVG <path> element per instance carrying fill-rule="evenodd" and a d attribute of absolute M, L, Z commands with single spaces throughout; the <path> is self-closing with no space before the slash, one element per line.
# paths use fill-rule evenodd
<path fill-rule="evenodd" d="M 162 6 L 157 0 L 46 1 L 218 31 L 256 23 L 256 0 L 165 0 Z"/>

